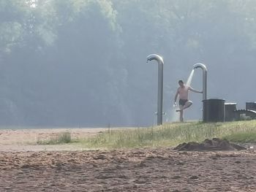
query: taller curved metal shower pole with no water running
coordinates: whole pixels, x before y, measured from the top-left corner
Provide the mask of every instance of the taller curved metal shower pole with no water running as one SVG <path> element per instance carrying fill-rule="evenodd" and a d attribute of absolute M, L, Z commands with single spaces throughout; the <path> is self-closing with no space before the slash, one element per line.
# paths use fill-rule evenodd
<path fill-rule="evenodd" d="M 162 92 L 163 92 L 163 68 L 164 61 L 161 56 L 151 54 L 147 56 L 148 61 L 156 60 L 158 63 L 158 95 L 157 95 L 157 125 L 162 125 Z"/>

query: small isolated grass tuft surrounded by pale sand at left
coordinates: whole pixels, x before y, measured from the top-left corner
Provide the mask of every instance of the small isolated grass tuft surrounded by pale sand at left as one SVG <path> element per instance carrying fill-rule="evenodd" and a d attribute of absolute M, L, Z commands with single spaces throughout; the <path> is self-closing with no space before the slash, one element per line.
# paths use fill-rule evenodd
<path fill-rule="evenodd" d="M 37 140 L 38 145 L 56 145 L 70 142 L 72 142 L 72 140 L 71 134 L 69 132 L 60 133 L 57 137 L 50 137 L 50 139 Z"/>

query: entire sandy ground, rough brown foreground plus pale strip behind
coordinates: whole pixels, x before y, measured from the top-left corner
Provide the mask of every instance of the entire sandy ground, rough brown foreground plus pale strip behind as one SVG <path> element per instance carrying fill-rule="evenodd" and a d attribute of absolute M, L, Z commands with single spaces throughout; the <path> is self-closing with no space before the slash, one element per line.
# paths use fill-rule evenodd
<path fill-rule="evenodd" d="M 63 129 L 0 130 L 0 191 L 256 191 L 254 150 L 31 145 L 38 135 L 48 137 L 58 131 Z M 84 137 L 102 129 L 72 131 L 74 137 Z"/>

